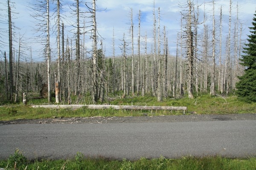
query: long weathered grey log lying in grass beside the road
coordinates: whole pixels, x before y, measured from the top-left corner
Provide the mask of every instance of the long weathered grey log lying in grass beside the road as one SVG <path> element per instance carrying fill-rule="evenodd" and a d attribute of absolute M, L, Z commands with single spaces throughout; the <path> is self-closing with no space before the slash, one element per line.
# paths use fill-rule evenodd
<path fill-rule="evenodd" d="M 78 109 L 78 108 L 88 108 L 88 109 L 109 109 L 113 108 L 116 110 L 166 110 L 166 111 L 185 111 L 187 107 L 177 107 L 177 106 L 137 106 L 137 105 L 32 105 L 33 108 L 52 108 L 52 109 L 59 109 L 59 108 L 71 108 L 71 109 Z"/>

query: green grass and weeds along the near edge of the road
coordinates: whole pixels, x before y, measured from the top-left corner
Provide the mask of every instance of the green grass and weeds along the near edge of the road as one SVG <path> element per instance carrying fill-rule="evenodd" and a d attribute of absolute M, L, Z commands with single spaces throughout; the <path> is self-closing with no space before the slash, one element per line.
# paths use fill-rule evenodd
<path fill-rule="evenodd" d="M 16 150 L 7 160 L 0 160 L 0 168 L 5 168 L 5 170 L 255 170 L 256 158 L 184 156 L 178 159 L 160 157 L 129 161 L 102 157 L 86 158 L 83 153 L 78 152 L 71 159 L 28 160 L 19 150 Z"/>

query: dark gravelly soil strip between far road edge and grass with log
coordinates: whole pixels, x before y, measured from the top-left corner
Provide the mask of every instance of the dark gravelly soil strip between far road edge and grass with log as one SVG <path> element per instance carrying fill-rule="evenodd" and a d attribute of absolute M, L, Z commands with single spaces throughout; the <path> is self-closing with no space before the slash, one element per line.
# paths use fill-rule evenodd
<path fill-rule="evenodd" d="M 171 116 L 125 116 L 125 117 L 73 117 L 62 118 L 53 116 L 51 119 L 17 119 L 0 121 L 0 125 L 9 124 L 57 124 L 57 123 L 139 123 L 139 122 L 199 122 L 199 121 L 228 121 L 228 120 L 256 120 L 256 113 L 246 114 L 212 114 L 212 115 L 171 115 Z"/>

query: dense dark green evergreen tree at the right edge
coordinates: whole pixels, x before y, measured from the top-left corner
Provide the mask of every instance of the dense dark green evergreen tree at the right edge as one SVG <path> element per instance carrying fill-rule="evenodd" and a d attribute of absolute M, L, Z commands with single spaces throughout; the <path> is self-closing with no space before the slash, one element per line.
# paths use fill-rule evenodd
<path fill-rule="evenodd" d="M 245 55 L 240 59 L 240 64 L 245 67 L 244 75 L 236 83 L 236 94 L 245 102 L 256 102 L 256 14 L 254 16 L 253 26 L 249 27 L 248 43 L 243 48 Z"/>

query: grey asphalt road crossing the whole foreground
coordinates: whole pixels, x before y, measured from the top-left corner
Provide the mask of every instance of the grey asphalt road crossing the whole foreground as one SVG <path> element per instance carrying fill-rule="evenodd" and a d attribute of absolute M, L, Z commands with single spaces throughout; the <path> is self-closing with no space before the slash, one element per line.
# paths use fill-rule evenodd
<path fill-rule="evenodd" d="M 256 156 L 256 120 L 0 125 L 0 159 L 17 148 L 29 159 Z"/>

